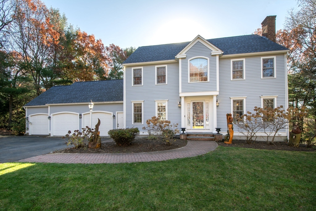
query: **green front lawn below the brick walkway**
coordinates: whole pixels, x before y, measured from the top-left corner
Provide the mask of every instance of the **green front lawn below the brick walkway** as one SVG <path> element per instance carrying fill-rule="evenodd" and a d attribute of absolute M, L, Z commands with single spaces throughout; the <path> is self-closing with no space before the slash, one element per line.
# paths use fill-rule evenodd
<path fill-rule="evenodd" d="M 316 210 L 316 153 L 219 146 L 163 162 L 4 163 L 0 210 Z"/>

